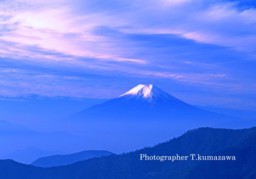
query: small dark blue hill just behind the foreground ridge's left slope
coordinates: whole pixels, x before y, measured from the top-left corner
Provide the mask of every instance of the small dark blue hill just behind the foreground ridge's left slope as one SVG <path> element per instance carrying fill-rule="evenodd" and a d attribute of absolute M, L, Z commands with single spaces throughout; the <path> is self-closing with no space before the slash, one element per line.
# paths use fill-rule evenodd
<path fill-rule="evenodd" d="M 113 154 L 106 150 L 86 150 L 69 155 L 53 155 L 36 159 L 31 165 L 36 167 L 56 167 L 68 165 L 78 161 L 84 161 L 89 158 L 102 157 Z"/>

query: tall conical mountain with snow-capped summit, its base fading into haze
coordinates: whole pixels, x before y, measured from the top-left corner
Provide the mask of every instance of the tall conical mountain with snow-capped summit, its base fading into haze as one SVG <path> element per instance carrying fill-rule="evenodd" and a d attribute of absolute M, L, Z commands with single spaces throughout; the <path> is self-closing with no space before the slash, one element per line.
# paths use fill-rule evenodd
<path fill-rule="evenodd" d="M 119 153 L 154 145 L 190 129 L 233 120 L 239 119 L 202 110 L 148 84 L 59 123 L 65 125 L 64 131 L 89 135 L 95 141 L 103 141 L 101 149 Z"/>

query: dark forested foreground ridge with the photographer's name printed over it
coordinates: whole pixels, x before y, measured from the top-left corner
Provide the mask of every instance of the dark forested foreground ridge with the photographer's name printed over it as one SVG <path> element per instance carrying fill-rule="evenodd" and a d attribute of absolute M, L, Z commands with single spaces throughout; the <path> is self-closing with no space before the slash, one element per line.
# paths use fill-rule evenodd
<path fill-rule="evenodd" d="M 148 156 L 235 156 L 235 161 L 140 161 Z M 199 128 L 169 142 L 123 155 L 38 168 L 0 161 L 0 178 L 256 178 L 256 127 L 242 130 Z"/>

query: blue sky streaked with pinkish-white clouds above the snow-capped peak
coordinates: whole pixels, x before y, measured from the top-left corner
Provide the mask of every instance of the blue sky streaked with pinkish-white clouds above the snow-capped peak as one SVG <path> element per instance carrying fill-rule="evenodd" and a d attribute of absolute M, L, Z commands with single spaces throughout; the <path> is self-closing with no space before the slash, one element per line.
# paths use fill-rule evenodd
<path fill-rule="evenodd" d="M 0 1 L 0 99 L 111 99 L 154 84 L 256 111 L 256 3 Z"/>

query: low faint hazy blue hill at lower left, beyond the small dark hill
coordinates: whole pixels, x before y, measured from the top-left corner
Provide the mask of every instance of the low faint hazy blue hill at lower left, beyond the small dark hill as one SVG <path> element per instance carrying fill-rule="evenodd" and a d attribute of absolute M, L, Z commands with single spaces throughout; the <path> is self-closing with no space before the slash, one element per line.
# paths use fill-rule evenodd
<path fill-rule="evenodd" d="M 56 154 L 64 154 L 62 151 L 48 151 L 39 148 L 29 147 L 26 149 L 16 150 L 9 154 L 2 156 L 2 159 L 13 159 L 14 161 L 19 161 L 21 163 L 30 164 L 40 157 L 46 157 Z"/>

